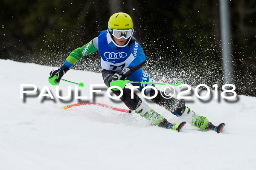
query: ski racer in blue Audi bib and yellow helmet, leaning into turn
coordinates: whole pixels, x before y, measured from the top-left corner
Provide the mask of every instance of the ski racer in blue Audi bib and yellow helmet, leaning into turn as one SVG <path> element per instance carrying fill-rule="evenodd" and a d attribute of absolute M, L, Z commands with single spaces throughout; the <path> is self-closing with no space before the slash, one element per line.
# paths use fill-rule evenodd
<path fill-rule="evenodd" d="M 77 48 L 71 52 L 66 61 L 57 70 L 50 72 L 50 77 L 55 79 L 53 85 L 57 85 L 61 77 L 70 70 L 71 66 L 88 54 L 99 51 L 101 56 L 102 77 L 107 87 L 110 83 L 116 80 L 129 79 L 135 82 L 152 82 L 151 78 L 142 70 L 143 65 L 146 63 L 146 57 L 140 46 L 140 43 L 133 36 L 133 22 L 131 17 L 123 12 L 113 14 L 108 21 L 108 29 L 101 31 L 98 37 L 93 38 L 90 42 Z M 140 91 L 147 85 L 152 84 L 134 84 L 140 86 Z M 112 90 L 113 91 L 113 90 Z M 113 91 L 119 96 L 120 91 Z M 154 96 L 155 91 L 147 88 L 144 91 L 146 96 Z M 204 116 L 198 116 L 190 108 L 186 107 L 185 100 L 170 98 L 166 99 L 160 94 L 158 90 L 157 96 L 151 99 L 157 105 L 163 106 L 172 114 L 183 118 L 195 127 L 203 130 L 214 130 L 217 133 L 221 132 L 224 123 L 219 126 L 214 126 Z M 166 96 L 168 97 L 168 96 Z M 122 102 L 127 105 L 131 111 L 140 114 L 148 119 L 153 125 L 159 127 L 180 131 L 186 124 L 173 124 L 167 121 L 159 113 L 151 109 L 139 96 L 134 94 L 131 99 L 131 89 L 124 88 L 123 95 L 120 98 Z"/>

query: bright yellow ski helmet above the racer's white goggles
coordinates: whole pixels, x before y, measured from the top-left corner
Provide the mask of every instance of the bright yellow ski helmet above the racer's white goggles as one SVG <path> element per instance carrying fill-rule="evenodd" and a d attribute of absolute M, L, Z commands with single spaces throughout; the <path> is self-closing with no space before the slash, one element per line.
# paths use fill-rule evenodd
<path fill-rule="evenodd" d="M 130 15 L 117 12 L 113 14 L 108 21 L 108 29 L 133 29 L 133 23 Z"/>

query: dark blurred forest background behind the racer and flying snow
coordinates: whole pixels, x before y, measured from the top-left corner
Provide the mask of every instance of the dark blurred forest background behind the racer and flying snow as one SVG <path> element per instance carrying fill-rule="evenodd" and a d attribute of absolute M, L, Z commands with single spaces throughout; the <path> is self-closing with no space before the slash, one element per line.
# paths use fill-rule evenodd
<path fill-rule="evenodd" d="M 60 66 L 107 29 L 115 12 L 134 22 L 155 81 L 223 85 L 218 0 L 1 0 L 1 59 Z M 256 96 L 256 0 L 230 0 L 233 84 Z M 73 69 L 100 72 L 98 52 Z"/>

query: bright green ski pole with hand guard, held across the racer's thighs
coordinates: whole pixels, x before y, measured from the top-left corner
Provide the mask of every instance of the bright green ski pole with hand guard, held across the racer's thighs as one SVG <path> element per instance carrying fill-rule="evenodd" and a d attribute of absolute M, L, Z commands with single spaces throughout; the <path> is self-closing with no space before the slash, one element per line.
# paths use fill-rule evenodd
<path fill-rule="evenodd" d="M 160 83 L 160 82 L 133 82 L 130 80 L 116 80 L 113 82 L 110 82 L 110 86 L 119 86 L 120 88 L 125 88 L 125 85 L 128 83 L 137 83 L 137 84 L 153 84 L 153 85 L 181 85 L 181 82 L 179 82 L 178 84 L 168 84 L 168 83 Z M 181 87 L 179 87 L 181 88 Z M 118 91 L 118 88 L 113 88 L 114 91 Z"/>

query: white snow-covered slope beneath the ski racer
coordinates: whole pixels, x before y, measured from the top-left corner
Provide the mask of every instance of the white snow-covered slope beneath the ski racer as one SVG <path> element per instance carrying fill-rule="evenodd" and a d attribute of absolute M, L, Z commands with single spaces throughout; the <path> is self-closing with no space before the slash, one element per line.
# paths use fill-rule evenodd
<path fill-rule="evenodd" d="M 0 65 L 0 170 L 256 169 L 255 97 L 240 95 L 229 103 L 214 98 L 200 102 L 193 95 L 187 102 L 192 110 L 226 127 L 217 134 L 187 124 L 177 133 L 150 126 L 136 113 L 94 105 L 61 110 L 79 101 L 64 103 L 56 97 L 56 86 L 47 80 L 53 68 L 3 59 Z M 90 84 L 103 84 L 101 74 L 86 71 L 70 70 L 63 78 L 84 82 L 80 96 L 88 98 Z M 35 84 L 40 92 L 47 86 L 55 100 L 34 96 L 25 102 L 20 84 Z M 75 90 L 68 82 L 59 85 L 62 96 L 68 86 Z M 81 100 L 126 108 L 101 89 L 93 99 Z M 170 122 L 182 122 L 164 108 L 148 105 Z"/>

